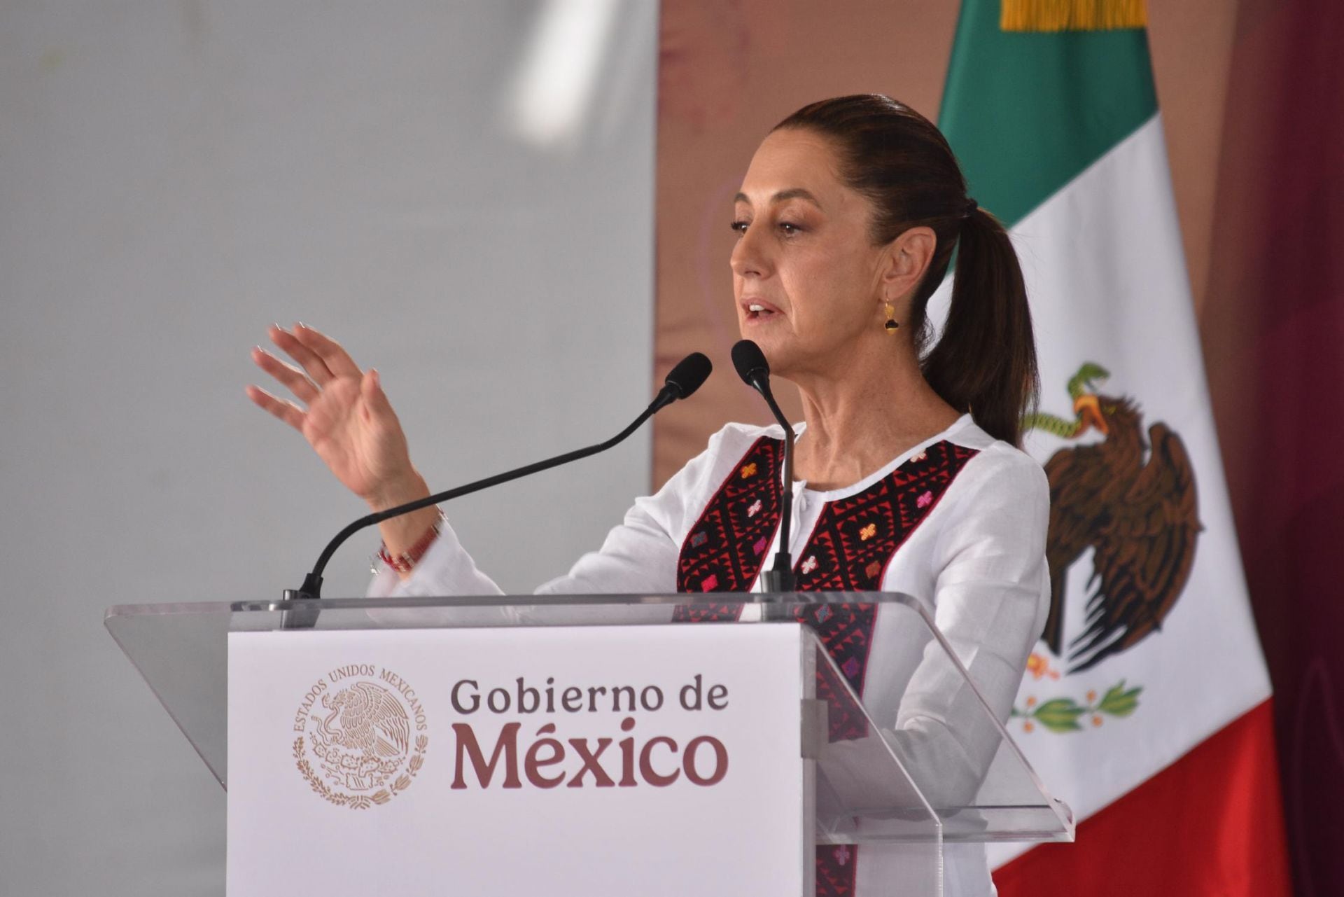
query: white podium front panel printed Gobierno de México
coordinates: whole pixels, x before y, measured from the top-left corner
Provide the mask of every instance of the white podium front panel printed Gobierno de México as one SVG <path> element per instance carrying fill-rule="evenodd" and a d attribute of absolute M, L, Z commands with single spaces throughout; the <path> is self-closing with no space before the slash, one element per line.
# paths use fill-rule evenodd
<path fill-rule="evenodd" d="M 808 893 L 804 635 L 230 632 L 227 893 Z"/>

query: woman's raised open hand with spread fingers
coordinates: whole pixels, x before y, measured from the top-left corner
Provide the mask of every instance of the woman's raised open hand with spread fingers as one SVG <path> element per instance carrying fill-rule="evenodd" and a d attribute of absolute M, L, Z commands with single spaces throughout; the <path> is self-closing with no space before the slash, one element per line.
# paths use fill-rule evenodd
<path fill-rule="evenodd" d="M 292 331 L 271 325 L 269 336 L 297 366 L 259 346 L 253 362 L 301 405 L 258 386 L 249 386 L 247 397 L 302 433 L 336 479 L 374 510 L 426 495 L 378 371 L 362 371 L 336 340 L 302 324 Z"/>

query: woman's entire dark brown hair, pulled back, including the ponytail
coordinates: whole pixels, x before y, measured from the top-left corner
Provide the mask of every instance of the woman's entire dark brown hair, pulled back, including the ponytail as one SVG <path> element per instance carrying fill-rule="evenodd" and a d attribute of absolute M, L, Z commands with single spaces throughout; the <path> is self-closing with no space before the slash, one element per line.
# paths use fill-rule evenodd
<path fill-rule="evenodd" d="M 910 303 L 925 379 L 945 402 L 970 412 L 995 438 L 1021 442 L 1021 418 L 1039 391 L 1036 343 L 1017 253 L 999 219 L 966 196 L 966 179 L 948 140 L 914 109 L 882 94 L 836 97 L 804 106 L 775 130 L 796 128 L 831 139 L 840 178 L 875 208 L 872 242 L 890 243 L 911 227 L 931 227 L 937 247 Z M 957 249 L 952 307 L 929 347 L 929 297 Z"/>

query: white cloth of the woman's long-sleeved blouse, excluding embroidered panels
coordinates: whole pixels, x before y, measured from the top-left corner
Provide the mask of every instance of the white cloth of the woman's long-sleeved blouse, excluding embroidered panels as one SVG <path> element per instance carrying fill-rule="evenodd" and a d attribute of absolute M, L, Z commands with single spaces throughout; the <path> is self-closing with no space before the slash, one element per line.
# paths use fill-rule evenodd
<path fill-rule="evenodd" d="M 778 426 L 728 424 L 710 438 L 656 495 L 636 499 L 625 520 L 602 547 L 581 557 L 570 572 L 546 582 L 539 594 L 672 593 L 677 590 L 679 559 L 691 530 L 726 479 L 762 437 L 782 438 Z M 864 492 L 922 452 L 948 441 L 972 449 L 950 484 L 890 557 L 880 590 L 903 592 L 922 601 L 952 644 L 972 680 L 1000 719 L 1005 719 L 1021 682 L 1027 658 L 1050 608 L 1046 530 L 1050 488 L 1044 471 L 1025 453 L 996 441 L 962 416 L 950 428 L 859 483 L 814 491 L 794 484 L 790 553 L 798 565 L 827 504 Z M 775 533 L 778 539 L 778 533 Z M 763 553 L 773 557 L 771 543 Z M 767 562 L 761 565 L 766 569 Z M 759 580 L 753 590 L 759 590 Z M 444 530 L 405 581 L 390 569 L 375 576 L 374 596 L 500 594 L 499 586 L 476 568 L 450 526 Z M 746 617 L 746 613 L 743 615 Z M 902 643 L 892 632 L 899 619 L 878 613 L 863 675 L 863 701 L 888 740 L 899 742 L 907 767 L 922 784 L 946 787 L 978 781 L 999 744 L 996 732 L 961 725 L 976 717 L 976 698 L 960 686 L 948 664 L 922 663 L 903 668 L 907 652 L 883 650 Z M 890 726 L 890 730 L 887 729 Z M 950 793 L 949 792 L 949 793 Z M 888 893 L 899 862 L 883 849 L 857 851 L 856 893 Z M 946 894 L 993 894 L 978 845 L 945 847 Z"/>

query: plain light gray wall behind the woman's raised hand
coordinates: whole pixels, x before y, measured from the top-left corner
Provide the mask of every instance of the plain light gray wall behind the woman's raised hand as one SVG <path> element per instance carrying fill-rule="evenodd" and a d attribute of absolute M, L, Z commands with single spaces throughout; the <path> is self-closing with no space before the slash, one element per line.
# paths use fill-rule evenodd
<path fill-rule="evenodd" d="M 0 5 L 0 893 L 223 890 L 224 795 L 102 613 L 277 596 L 363 512 L 245 398 L 266 324 L 376 364 L 439 487 L 648 401 L 657 8 L 552 5 Z M 582 69 L 550 27 L 587 113 L 528 125 Z M 645 432 L 452 516 L 528 590 L 648 476 Z"/>

